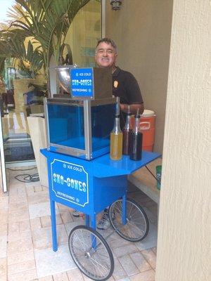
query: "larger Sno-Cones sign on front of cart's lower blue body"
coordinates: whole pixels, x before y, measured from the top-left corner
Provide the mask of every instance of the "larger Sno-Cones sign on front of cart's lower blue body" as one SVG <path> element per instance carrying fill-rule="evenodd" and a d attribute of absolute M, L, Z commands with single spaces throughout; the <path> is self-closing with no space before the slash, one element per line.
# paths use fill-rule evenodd
<path fill-rule="evenodd" d="M 63 200 L 82 207 L 89 203 L 88 173 L 81 165 L 53 159 L 51 188 Z"/>

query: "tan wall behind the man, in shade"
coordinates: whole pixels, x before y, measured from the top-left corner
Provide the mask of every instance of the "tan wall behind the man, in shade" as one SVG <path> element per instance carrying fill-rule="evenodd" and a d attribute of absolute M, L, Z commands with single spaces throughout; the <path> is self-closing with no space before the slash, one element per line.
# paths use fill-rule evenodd
<path fill-rule="evenodd" d="M 117 65 L 134 74 L 145 108 L 156 117 L 154 150 L 162 153 L 173 0 L 106 0 L 106 36 L 117 44 Z"/>

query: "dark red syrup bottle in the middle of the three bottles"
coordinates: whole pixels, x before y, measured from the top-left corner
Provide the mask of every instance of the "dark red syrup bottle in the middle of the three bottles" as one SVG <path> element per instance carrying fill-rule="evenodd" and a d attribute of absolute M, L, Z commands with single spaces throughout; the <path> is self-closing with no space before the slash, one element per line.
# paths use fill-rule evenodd
<path fill-rule="evenodd" d="M 124 129 L 122 131 L 123 134 L 122 154 L 124 155 L 129 155 L 130 152 L 131 133 L 132 133 L 131 115 L 132 113 L 129 112 L 129 106 L 128 106 L 126 122 L 124 125 Z"/>

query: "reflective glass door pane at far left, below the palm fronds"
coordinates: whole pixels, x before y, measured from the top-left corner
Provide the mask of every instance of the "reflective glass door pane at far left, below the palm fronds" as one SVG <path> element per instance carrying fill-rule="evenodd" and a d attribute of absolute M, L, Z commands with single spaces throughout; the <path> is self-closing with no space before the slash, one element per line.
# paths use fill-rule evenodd
<path fill-rule="evenodd" d="M 21 76 L 14 67 L 6 68 L 6 77 L 1 81 L 4 84 L 4 91 L 1 91 L 1 130 L 6 166 L 15 163 L 15 166 L 17 163 L 18 166 L 25 166 L 34 162 L 27 125 L 27 115 L 31 113 L 28 100 L 33 95 L 29 84 L 32 81 Z"/>

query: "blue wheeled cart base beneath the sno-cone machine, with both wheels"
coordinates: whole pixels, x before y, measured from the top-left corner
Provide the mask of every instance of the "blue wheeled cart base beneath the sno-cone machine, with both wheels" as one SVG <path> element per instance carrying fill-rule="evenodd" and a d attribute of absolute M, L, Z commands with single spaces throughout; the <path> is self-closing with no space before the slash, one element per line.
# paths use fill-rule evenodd
<path fill-rule="evenodd" d="M 86 214 L 86 226 L 73 228 L 69 249 L 78 268 L 93 280 L 107 280 L 114 270 L 113 254 L 96 231 L 96 215 L 109 208 L 110 223 L 124 239 L 136 242 L 148 234 L 143 209 L 127 198 L 127 175 L 160 157 L 143 152 L 140 161 L 123 156 L 119 161 L 106 154 L 91 161 L 42 149 L 49 174 L 53 251 L 57 251 L 55 202 Z"/>

